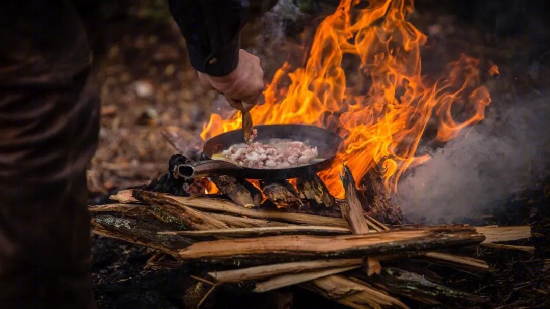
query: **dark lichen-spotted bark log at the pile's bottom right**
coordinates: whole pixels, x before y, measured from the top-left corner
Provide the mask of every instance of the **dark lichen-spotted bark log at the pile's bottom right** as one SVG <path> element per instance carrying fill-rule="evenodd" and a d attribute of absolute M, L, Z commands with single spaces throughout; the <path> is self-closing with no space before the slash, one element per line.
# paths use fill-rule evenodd
<path fill-rule="evenodd" d="M 461 299 L 470 302 L 487 302 L 487 299 L 451 289 L 438 283 L 433 283 L 419 274 L 404 271 L 403 269 L 388 267 L 381 274 L 383 287 L 393 294 L 409 297 L 426 304 L 437 304 L 442 299 Z"/>

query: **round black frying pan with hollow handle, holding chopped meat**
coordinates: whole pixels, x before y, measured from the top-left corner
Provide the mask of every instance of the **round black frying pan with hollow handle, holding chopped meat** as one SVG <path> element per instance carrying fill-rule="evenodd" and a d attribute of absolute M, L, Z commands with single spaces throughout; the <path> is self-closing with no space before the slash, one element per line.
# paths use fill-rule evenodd
<path fill-rule="evenodd" d="M 309 125 L 260 125 L 255 127 L 258 135 L 255 141 L 270 138 L 284 138 L 304 142 L 317 147 L 318 159 L 308 165 L 288 168 L 249 168 L 224 160 L 211 160 L 212 155 L 228 149 L 231 145 L 244 143 L 243 130 L 219 134 L 205 142 L 202 149 L 208 160 L 191 162 L 176 167 L 175 172 L 184 178 L 201 178 L 217 175 L 231 175 L 246 179 L 282 180 L 298 178 L 327 168 L 338 151 L 342 138 L 324 128 Z"/>

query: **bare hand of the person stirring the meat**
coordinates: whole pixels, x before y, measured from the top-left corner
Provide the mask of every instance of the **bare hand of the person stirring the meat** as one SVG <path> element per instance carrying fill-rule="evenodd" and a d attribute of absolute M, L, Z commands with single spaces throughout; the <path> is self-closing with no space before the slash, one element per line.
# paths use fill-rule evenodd
<path fill-rule="evenodd" d="M 240 111 L 252 109 L 263 92 L 263 70 L 260 66 L 260 58 L 244 49 L 239 50 L 237 68 L 228 75 L 218 77 L 198 73 L 201 83 L 222 92 L 229 105 Z"/>

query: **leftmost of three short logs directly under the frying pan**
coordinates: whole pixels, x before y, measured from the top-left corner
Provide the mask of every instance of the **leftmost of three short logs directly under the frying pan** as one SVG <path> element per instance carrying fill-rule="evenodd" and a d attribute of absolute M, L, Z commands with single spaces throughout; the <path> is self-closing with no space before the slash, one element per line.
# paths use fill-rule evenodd
<path fill-rule="evenodd" d="M 260 206 L 262 193 L 245 179 L 237 179 L 233 176 L 222 175 L 210 177 L 216 187 L 235 204 L 247 208 Z"/>

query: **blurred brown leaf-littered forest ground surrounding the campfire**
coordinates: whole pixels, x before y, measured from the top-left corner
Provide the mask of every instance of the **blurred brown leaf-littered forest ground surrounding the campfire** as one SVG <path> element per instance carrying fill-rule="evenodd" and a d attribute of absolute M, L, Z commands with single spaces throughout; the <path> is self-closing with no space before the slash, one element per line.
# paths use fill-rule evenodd
<path fill-rule="evenodd" d="M 314 29 L 320 21 L 320 12 L 329 10 L 327 6 L 315 14 L 305 15 L 295 31 L 304 25 L 306 29 Z M 199 85 L 183 38 L 163 1 L 106 5 L 96 14 L 95 19 L 89 21 L 89 27 L 90 40 L 94 42 L 94 75 L 101 95 L 102 120 L 100 147 L 87 174 L 91 203 L 97 196 L 114 190 L 146 184 L 166 170 L 175 150 L 162 136 L 163 126 L 181 127 L 185 132 L 182 138 L 189 143 L 189 153 L 194 153 L 200 150 L 199 133 L 208 115 L 213 111 L 230 112 L 217 92 Z M 498 64 L 498 78 L 487 76 L 486 81 L 495 99 L 493 104 L 497 106 L 547 93 L 550 31 L 544 20 L 532 18 L 519 33 L 500 35 L 497 32 L 502 29 L 476 16 L 452 6 L 419 1 L 411 19 L 428 34 L 423 68 L 427 72 L 437 70 L 442 63 L 465 52 L 480 58 L 483 68 Z M 243 37 L 245 47 L 261 58 L 266 78 L 270 79 L 274 69 L 287 59 L 289 42 L 299 44 L 301 36 L 291 35 L 281 43 L 265 25 L 266 21 L 256 19 L 246 27 Z M 550 298 L 549 183 L 541 182 L 510 200 L 509 212 L 497 216 L 493 222 L 535 224 L 538 237 L 524 244 L 542 249 L 505 255 L 502 250 L 486 249 L 477 252 L 477 257 L 488 259 L 491 266 L 504 271 L 500 275 L 480 279 L 472 274 L 462 283 L 452 282 L 453 276 L 440 279 L 450 286 L 465 285 L 471 292 L 489 295 L 494 302 L 488 307 L 535 308 L 537 299 L 540 299 L 538 307 L 550 306 L 547 303 Z M 93 254 L 92 270 L 100 308 L 183 308 L 183 287 L 178 282 L 193 269 L 152 272 L 144 269 L 151 252 L 96 236 Z M 305 291 L 300 293 L 296 296 L 296 307 L 311 307 L 311 299 L 315 299 L 316 307 L 337 306 L 311 297 Z M 226 299 L 225 307 L 239 304 L 238 297 Z"/>

